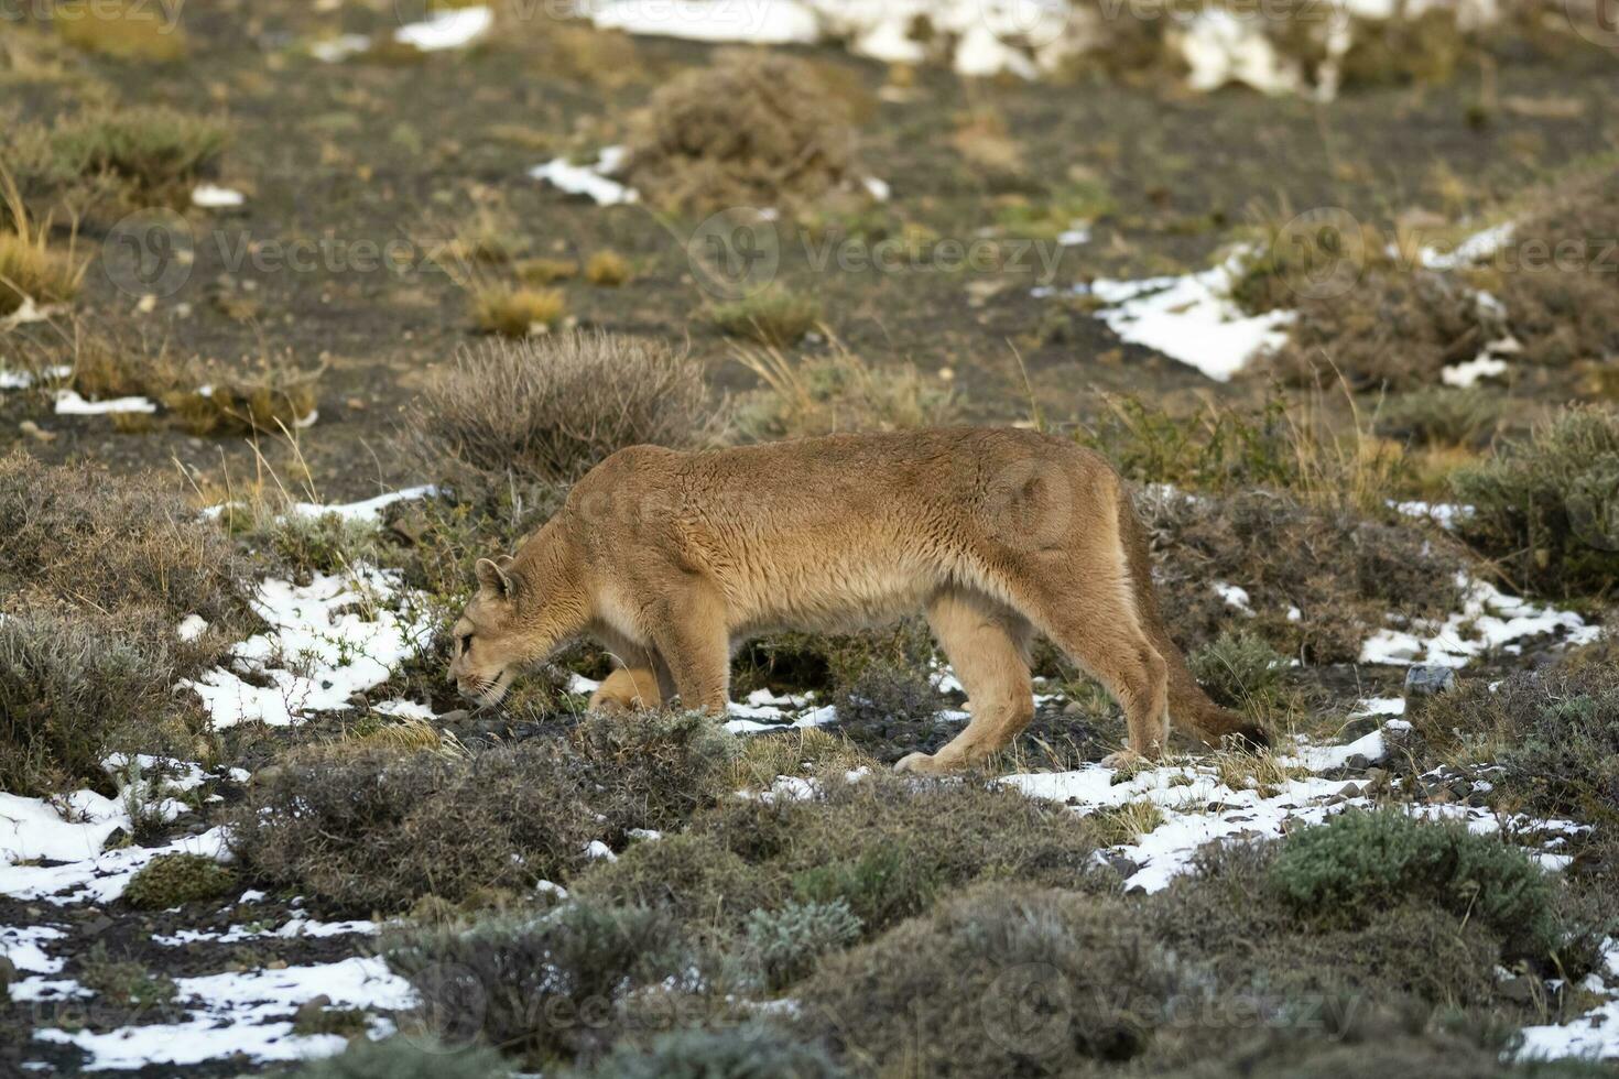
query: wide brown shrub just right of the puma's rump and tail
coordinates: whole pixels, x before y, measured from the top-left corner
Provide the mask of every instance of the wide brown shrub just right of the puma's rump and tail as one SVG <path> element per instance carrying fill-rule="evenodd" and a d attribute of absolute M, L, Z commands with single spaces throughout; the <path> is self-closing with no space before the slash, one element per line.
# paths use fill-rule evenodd
<path fill-rule="evenodd" d="M 1273 492 L 1148 489 L 1135 503 L 1171 637 L 1187 650 L 1240 618 L 1284 655 L 1353 662 L 1387 615 L 1443 618 L 1460 607 L 1462 552 L 1413 524 L 1311 510 Z M 1247 590 L 1255 615 L 1234 611 L 1211 582 Z"/>

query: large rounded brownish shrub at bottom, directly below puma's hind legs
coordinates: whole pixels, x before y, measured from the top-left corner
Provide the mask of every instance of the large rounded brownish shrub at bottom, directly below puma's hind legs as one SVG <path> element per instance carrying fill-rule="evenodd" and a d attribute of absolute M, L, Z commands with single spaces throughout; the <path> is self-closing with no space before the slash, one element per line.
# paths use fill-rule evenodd
<path fill-rule="evenodd" d="M 1143 1056 L 1201 980 L 1107 899 L 983 885 L 829 956 L 800 1029 L 874 1074 L 1077 1074 Z M 1172 1037 L 1172 1035 L 1171 1035 Z"/>

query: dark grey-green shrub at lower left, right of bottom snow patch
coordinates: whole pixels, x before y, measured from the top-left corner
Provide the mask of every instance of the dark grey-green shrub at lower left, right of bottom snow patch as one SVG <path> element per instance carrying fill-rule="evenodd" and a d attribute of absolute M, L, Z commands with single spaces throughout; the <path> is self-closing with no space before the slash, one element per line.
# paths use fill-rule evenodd
<path fill-rule="evenodd" d="M 667 914 L 583 903 L 400 932 L 384 938 L 382 956 L 442 1030 L 536 1064 L 601 1051 L 627 1022 L 628 993 L 695 977 Z"/>

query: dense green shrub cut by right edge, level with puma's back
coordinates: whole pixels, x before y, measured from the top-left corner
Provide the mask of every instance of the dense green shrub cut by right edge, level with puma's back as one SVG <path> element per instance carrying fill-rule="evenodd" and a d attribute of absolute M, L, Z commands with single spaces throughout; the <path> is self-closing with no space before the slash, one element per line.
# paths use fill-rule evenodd
<path fill-rule="evenodd" d="M 1451 477 L 1462 535 L 1525 587 L 1601 594 L 1619 579 L 1619 411 L 1570 408 Z"/>

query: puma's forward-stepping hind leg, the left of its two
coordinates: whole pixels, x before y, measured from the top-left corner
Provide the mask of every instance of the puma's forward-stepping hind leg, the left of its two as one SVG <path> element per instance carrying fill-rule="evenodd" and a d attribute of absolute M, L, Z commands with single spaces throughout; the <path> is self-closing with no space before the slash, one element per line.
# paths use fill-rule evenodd
<path fill-rule="evenodd" d="M 1031 628 L 988 597 L 950 590 L 928 605 L 928 624 L 967 689 L 971 720 L 939 752 L 910 754 L 895 768 L 937 775 L 1005 749 L 1035 718 L 1028 671 Z"/>

